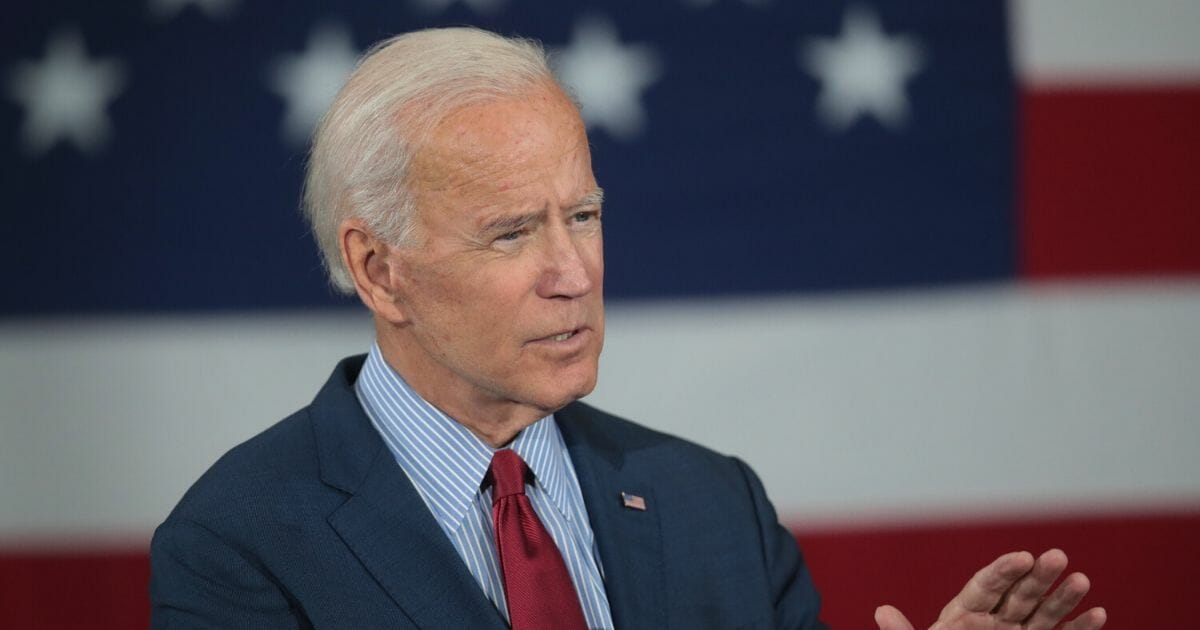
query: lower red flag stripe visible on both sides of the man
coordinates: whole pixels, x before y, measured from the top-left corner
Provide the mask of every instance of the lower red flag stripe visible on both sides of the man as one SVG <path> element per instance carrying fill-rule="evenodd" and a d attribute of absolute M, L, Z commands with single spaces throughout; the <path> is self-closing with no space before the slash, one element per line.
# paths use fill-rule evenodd
<path fill-rule="evenodd" d="M 1200 511 L 961 526 L 838 527 L 798 534 L 833 628 L 875 628 L 893 604 L 920 628 L 984 563 L 1012 550 L 1067 551 L 1112 628 L 1190 628 L 1200 600 Z M 150 564 L 121 552 L 0 550 L 0 628 L 125 630 L 149 624 Z"/>

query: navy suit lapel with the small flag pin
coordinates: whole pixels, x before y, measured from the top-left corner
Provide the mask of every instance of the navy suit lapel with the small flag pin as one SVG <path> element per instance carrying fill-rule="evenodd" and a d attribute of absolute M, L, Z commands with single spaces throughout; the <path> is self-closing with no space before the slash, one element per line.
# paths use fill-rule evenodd
<path fill-rule="evenodd" d="M 666 628 L 662 532 L 649 475 L 640 473 L 622 445 L 596 431 L 598 412 L 575 403 L 554 414 L 566 442 L 588 520 L 604 563 L 605 589 L 617 628 Z M 626 508 L 622 492 L 646 500 Z"/>

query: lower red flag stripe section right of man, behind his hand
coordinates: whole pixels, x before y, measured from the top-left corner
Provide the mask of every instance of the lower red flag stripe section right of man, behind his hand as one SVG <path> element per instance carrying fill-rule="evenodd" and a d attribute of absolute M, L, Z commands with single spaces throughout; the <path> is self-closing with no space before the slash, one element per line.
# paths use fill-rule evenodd
<path fill-rule="evenodd" d="M 1200 512 L 1072 517 L 870 529 L 797 536 L 833 628 L 875 628 L 892 604 L 918 628 L 1001 553 L 1058 547 L 1092 590 L 1080 610 L 1104 606 L 1112 628 L 1194 628 L 1200 600 Z M 1086 606 L 1085 606 L 1086 605 Z"/>

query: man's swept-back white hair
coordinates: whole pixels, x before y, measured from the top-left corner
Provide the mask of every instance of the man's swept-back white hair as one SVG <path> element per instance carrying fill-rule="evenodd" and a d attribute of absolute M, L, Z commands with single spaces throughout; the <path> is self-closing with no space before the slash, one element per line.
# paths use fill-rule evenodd
<path fill-rule="evenodd" d="M 540 43 L 480 29 L 407 32 L 367 50 L 317 126 L 305 178 L 304 214 L 334 288 L 354 293 L 337 236 L 347 217 L 391 245 L 412 238 L 408 168 L 438 122 L 547 82 Z"/>

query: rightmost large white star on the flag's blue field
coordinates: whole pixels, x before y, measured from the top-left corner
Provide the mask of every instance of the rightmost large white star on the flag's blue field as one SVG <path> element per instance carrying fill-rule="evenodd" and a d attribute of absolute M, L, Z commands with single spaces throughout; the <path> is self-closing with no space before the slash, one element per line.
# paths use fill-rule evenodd
<path fill-rule="evenodd" d="M 802 41 L 797 56 L 821 80 L 817 114 L 829 128 L 844 131 L 866 115 L 893 130 L 907 122 L 905 83 L 920 70 L 920 46 L 888 37 L 870 10 L 848 8 L 840 37 Z"/>

